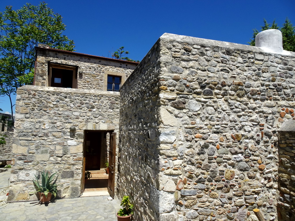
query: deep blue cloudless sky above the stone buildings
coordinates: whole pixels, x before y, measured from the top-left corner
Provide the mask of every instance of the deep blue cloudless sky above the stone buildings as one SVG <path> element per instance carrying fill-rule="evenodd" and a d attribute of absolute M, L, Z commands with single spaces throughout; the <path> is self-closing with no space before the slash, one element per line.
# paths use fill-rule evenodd
<path fill-rule="evenodd" d="M 35 0 L 1 0 L 19 9 Z M 294 0 L 258 1 L 75 1 L 49 0 L 48 7 L 63 17 L 66 34 L 76 52 L 111 57 L 124 46 L 128 57 L 142 60 L 165 32 L 199 38 L 247 44 L 252 29 L 260 29 L 263 18 L 281 26 L 286 17 L 295 25 Z M 15 98 L 14 98 L 15 99 Z M 0 108 L 10 112 L 9 101 L 0 97 Z"/>

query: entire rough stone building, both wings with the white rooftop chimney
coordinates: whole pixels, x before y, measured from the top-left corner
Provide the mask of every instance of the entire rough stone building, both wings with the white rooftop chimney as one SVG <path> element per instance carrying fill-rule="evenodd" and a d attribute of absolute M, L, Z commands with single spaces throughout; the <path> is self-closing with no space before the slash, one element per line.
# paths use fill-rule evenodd
<path fill-rule="evenodd" d="M 291 220 L 295 53 L 263 33 L 259 47 L 166 33 L 138 65 L 38 47 L 35 86 L 17 92 L 9 199 L 28 199 L 42 169 L 78 196 L 87 132 L 102 160 L 105 133 L 120 132 L 117 193 L 133 220 L 254 221 L 255 208 Z M 58 68 L 72 88 L 56 88 Z M 107 75 L 125 77 L 120 94 Z"/>

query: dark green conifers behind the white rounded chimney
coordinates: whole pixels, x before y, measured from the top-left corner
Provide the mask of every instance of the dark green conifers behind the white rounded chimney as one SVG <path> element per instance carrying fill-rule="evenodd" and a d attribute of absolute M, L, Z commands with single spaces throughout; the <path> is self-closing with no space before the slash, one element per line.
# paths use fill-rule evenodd
<path fill-rule="evenodd" d="M 278 27 L 276 20 L 273 20 L 273 23 L 270 26 L 270 23 L 266 22 L 266 19 L 263 19 L 263 26 L 260 26 L 260 32 L 268 29 L 278 29 L 282 32 L 283 36 L 283 49 L 287 51 L 295 52 L 295 27 L 291 24 L 288 18 L 286 18 L 283 27 Z M 259 33 L 257 29 L 253 29 L 253 37 L 250 42 L 250 45 L 255 46 L 255 37 Z"/>

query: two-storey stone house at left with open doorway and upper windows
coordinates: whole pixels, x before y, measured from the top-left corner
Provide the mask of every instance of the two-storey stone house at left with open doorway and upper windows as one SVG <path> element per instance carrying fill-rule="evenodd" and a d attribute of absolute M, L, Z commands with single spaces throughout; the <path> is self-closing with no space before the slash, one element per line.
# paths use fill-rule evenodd
<path fill-rule="evenodd" d="M 42 45 L 35 64 L 34 85 L 17 90 L 9 201 L 36 199 L 32 179 L 44 169 L 59 172 L 60 197 L 79 197 L 83 172 L 105 167 L 119 87 L 138 63 Z"/>

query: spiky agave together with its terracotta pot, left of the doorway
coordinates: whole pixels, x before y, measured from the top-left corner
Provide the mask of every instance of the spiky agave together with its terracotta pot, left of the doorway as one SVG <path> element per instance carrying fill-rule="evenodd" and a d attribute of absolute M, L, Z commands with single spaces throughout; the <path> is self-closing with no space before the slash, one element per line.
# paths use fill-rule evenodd
<path fill-rule="evenodd" d="M 39 192 L 40 203 L 50 202 L 52 195 L 54 196 L 53 199 L 57 196 L 58 185 L 56 184 L 56 181 L 58 179 L 58 176 L 54 180 L 54 176 L 56 174 L 57 173 L 54 173 L 51 176 L 49 176 L 48 171 L 45 173 L 45 171 L 43 170 L 43 172 L 41 172 L 41 184 L 39 183 L 39 180 L 35 175 L 36 180 L 33 180 L 33 183 L 37 187 L 37 191 L 30 192 L 30 194 Z"/>

